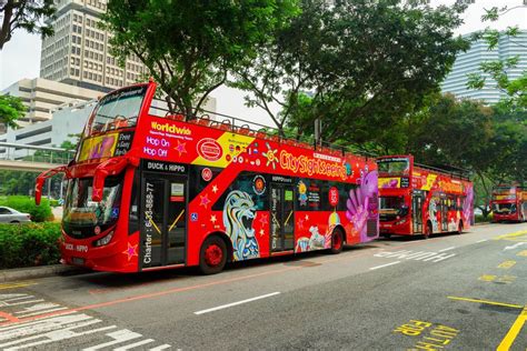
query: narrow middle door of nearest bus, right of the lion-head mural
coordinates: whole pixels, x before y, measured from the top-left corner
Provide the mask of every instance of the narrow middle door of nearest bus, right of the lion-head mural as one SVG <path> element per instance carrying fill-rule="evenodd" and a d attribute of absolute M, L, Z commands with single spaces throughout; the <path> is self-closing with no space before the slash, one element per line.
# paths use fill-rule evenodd
<path fill-rule="evenodd" d="M 276 177 L 272 177 L 274 179 Z M 282 177 L 279 177 L 282 180 Z M 286 251 L 295 248 L 294 185 L 275 183 L 270 187 L 270 251 Z"/>

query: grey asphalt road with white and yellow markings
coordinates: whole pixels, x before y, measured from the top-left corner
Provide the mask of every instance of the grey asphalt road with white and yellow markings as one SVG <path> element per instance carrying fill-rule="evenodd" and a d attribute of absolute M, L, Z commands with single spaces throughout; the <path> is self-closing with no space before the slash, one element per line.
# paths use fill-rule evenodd
<path fill-rule="evenodd" d="M 526 350 L 527 223 L 341 254 L 0 284 L 0 349 Z"/>

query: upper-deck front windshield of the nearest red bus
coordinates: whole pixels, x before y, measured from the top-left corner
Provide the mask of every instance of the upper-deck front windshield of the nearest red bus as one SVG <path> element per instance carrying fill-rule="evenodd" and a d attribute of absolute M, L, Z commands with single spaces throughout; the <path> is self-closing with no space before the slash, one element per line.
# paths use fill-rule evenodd
<path fill-rule="evenodd" d="M 136 127 L 147 86 L 118 90 L 101 99 L 93 111 L 88 136 Z"/>

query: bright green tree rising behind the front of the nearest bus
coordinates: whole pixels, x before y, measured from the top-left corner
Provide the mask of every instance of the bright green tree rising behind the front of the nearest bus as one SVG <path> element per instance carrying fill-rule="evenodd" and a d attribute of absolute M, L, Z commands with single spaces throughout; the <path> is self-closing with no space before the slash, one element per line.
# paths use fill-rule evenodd
<path fill-rule="evenodd" d="M 112 0 L 103 27 L 121 64 L 137 56 L 169 109 L 193 116 L 229 70 L 255 57 L 257 44 L 296 12 L 295 0 Z"/>

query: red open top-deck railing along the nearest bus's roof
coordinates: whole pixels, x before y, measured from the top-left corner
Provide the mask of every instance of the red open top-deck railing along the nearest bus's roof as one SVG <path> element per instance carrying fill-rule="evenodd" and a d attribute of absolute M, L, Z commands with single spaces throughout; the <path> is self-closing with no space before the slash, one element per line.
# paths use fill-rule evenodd
<path fill-rule="evenodd" d="M 159 99 L 155 99 L 153 101 L 166 103 L 163 100 Z M 374 159 L 377 157 L 374 153 L 369 153 L 364 150 L 358 150 L 351 147 L 339 146 L 325 141 L 317 142 L 314 137 L 306 137 L 300 133 L 295 136 L 288 136 L 290 134 L 290 132 L 282 131 L 284 134 L 280 134 L 279 130 L 276 128 L 208 110 L 200 110 L 200 116 L 192 116 L 191 118 L 187 118 L 183 113 L 175 114 L 171 113 L 170 110 L 166 107 L 151 104 L 149 113 L 160 118 L 167 118 L 170 120 L 177 120 L 181 122 L 216 128 L 219 130 L 231 131 L 233 133 L 242 136 L 270 140 L 274 142 L 292 147 L 300 147 L 337 157 L 360 156 L 366 159 Z"/>

